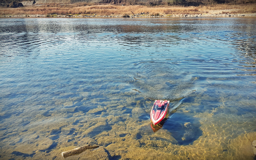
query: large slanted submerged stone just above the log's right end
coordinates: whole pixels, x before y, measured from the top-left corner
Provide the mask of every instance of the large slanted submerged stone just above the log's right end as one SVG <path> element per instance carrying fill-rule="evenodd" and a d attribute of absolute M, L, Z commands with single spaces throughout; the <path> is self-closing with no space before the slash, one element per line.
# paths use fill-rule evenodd
<path fill-rule="evenodd" d="M 94 137 L 103 131 L 111 130 L 111 129 L 112 129 L 112 127 L 110 127 L 106 122 L 99 122 L 96 125 L 88 128 L 82 134 L 89 136 L 89 137 Z"/>

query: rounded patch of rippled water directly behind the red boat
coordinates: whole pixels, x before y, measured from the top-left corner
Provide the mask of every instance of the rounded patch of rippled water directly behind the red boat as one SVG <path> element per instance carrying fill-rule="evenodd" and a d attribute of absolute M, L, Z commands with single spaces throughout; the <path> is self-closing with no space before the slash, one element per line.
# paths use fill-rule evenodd
<path fill-rule="evenodd" d="M 134 77 L 135 86 L 151 100 L 181 99 L 195 90 L 191 75 L 173 63 L 144 61 L 135 65 L 143 71 Z"/>

